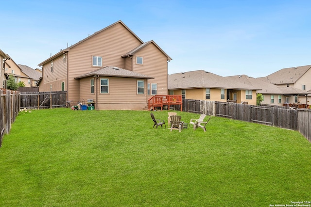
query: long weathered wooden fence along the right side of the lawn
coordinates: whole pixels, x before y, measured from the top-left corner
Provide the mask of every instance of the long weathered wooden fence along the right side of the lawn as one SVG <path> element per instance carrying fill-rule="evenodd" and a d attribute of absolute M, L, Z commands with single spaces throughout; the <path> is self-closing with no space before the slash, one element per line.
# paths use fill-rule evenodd
<path fill-rule="evenodd" d="M 183 99 L 183 111 L 298 130 L 311 142 L 311 110 Z"/>

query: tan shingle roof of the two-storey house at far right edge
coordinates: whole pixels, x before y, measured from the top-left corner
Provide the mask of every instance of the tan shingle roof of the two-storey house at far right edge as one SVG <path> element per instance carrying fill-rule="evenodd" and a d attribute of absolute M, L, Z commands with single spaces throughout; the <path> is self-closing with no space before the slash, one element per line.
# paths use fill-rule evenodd
<path fill-rule="evenodd" d="M 311 65 L 283 68 L 266 77 L 257 78 L 272 84 L 291 84 L 295 83 L 303 74 L 305 74 Z"/>

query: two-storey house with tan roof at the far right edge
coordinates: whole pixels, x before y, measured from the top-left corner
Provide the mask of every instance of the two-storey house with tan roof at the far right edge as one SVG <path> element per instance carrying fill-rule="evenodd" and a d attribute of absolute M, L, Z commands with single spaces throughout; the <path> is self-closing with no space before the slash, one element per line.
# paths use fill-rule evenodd
<path fill-rule="evenodd" d="M 266 77 L 257 78 L 278 87 L 293 87 L 306 94 L 311 92 L 311 65 L 283 68 Z M 285 90 L 285 89 L 284 89 Z M 309 98 L 311 94 L 308 95 Z M 305 97 L 299 97 L 300 104 L 309 104 Z M 292 103 L 292 101 L 290 101 Z"/>

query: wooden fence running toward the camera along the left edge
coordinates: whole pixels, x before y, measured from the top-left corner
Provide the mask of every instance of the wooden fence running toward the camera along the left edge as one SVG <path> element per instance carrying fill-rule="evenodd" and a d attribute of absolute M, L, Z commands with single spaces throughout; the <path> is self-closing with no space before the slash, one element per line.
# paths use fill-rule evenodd
<path fill-rule="evenodd" d="M 0 89 L 0 147 L 4 134 L 8 134 L 20 108 L 20 94 L 16 91 Z"/>

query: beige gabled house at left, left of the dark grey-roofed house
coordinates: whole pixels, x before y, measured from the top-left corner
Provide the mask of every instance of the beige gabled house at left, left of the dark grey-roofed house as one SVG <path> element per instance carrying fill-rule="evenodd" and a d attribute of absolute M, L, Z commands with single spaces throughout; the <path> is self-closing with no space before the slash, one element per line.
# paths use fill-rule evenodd
<path fill-rule="evenodd" d="M 24 82 L 25 87 L 31 87 L 31 78 L 21 70 L 12 58 L 6 60 L 4 65 L 6 80 L 12 75 L 17 83 Z"/>

